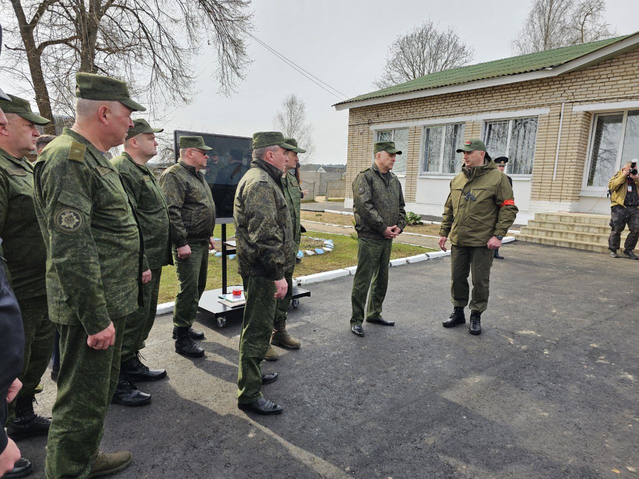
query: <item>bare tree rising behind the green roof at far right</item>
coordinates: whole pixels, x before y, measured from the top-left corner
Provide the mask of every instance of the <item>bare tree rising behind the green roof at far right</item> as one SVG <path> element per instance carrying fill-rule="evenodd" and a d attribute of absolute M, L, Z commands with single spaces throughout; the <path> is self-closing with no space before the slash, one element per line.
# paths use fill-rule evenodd
<path fill-rule="evenodd" d="M 533 0 L 523 29 L 512 40 L 517 55 L 594 42 L 614 34 L 603 20 L 604 0 Z"/>

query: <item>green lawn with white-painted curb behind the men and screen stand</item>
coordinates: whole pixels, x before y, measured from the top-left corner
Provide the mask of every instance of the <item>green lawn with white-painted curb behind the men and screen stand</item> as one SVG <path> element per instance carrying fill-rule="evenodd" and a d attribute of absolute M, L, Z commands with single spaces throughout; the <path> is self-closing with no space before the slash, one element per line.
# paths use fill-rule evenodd
<path fill-rule="evenodd" d="M 344 218 L 348 219 L 348 217 Z M 233 234 L 235 234 L 235 227 L 233 225 L 227 225 L 227 238 L 230 238 Z M 215 226 L 213 236 L 215 238 L 220 238 L 220 225 Z M 309 236 L 313 236 L 315 238 L 332 239 L 335 245 L 335 250 L 321 255 L 304 256 L 302 262 L 295 265 L 295 273 L 293 274 L 293 277 L 337 270 L 339 268 L 348 268 L 348 266 L 355 266 L 355 264 L 357 264 L 357 239 L 353 239 L 350 236 L 343 236 L 341 234 L 325 234 L 319 232 L 311 232 L 310 234 L 304 234 L 303 236 L 306 236 L 307 238 L 302 238 L 302 244 L 309 245 L 309 247 L 305 247 L 304 249 L 314 249 L 315 247 L 311 248 L 312 245 L 317 245 L 316 247 L 318 248 L 323 246 L 320 241 L 314 241 L 308 238 Z M 216 244 L 216 248 L 220 248 L 219 243 Z M 406 256 L 427 253 L 429 251 L 433 250 L 418 246 L 393 243 L 390 258 L 403 258 Z M 227 275 L 228 285 L 242 284 L 242 278 L 237 273 L 236 259 L 227 261 Z M 219 287 L 222 287 L 222 258 L 210 255 L 208 261 L 206 289 L 216 289 Z M 165 266 L 162 269 L 158 302 L 166 303 L 167 301 L 174 301 L 177 292 L 178 280 L 175 274 L 175 267 Z"/>

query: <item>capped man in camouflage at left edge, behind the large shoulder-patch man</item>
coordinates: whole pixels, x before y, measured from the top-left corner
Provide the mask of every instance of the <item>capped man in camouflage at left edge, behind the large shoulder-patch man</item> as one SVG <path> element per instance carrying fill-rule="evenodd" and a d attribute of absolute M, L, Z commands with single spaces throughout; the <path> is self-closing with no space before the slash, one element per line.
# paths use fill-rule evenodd
<path fill-rule="evenodd" d="M 0 100 L 0 108 L 7 119 L 0 126 L 0 255 L 6 258 L 7 277 L 22 311 L 25 338 L 18 376 L 22 389 L 9 405 L 6 427 L 9 437 L 22 439 L 46 436 L 50 425 L 33 411 L 34 391 L 49 365 L 55 328 L 47 312 L 47 249 L 33 202 L 33 168 L 25 158 L 40 136 L 36 126 L 49 120 L 13 95 L 10 101 Z"/>

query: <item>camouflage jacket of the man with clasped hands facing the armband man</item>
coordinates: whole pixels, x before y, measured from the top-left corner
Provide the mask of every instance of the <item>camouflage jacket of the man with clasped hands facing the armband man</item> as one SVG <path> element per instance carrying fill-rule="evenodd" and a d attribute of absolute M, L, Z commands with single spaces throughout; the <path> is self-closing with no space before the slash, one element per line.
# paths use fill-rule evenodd
<path fill-rule="evenodd" d="M 389 184 L 381 176 L 377 165 L 360 172 L 353 181 L 353 209 L 355 229 L 360 238 L 384 239 L 389 226 L 406 227 L 404 195 L 397 176 L 389 171 Z"/>

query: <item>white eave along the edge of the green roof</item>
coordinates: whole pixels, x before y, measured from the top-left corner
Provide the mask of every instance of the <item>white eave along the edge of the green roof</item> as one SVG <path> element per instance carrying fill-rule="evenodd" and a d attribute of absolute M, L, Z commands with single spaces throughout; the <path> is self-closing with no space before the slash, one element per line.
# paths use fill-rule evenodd
<path fill-rule="evenodd" d="M 639 32 L 635 33 L 624 40 L 606 45 L 599 50 L 590 52 L 584 56 L 568 61 L 563 65 L 554 68 L 544 68 L 543 70 L 535 70 L 534 72 L 517 73 L 516 75 L 505 75 L 487 80 L 475 80 L 459 85 L 449 85 L 437 88 L 411 91 L 408 93 L 397 93 L 396 95 L 381 96 L 380 98 L 369 98 L 367 100 L 359 100 L 357 102 L 335 103 L 333 105 L 336 111 L 350 110 L 351 108 L 368 107 L 372 105 L 381 105 L 383 103 L 402 102 L 404 100 L 412 100 L 414 98 L 427 98 L 428 96 L 445 95 L 447 93 L 457 93 L 460 91 L 471 91 L 476 89 L 488 88 L 493 86 L 507 85 L 512 83 L 526 82 L 529 80 L 544 79 L 556 77 L 562 73 L 574 72 L 582 68 L 596 65 L 601 61 L 610 59 L 611 57 L 633 50 L 639 45 Z"/>

